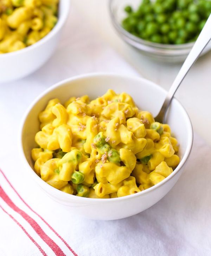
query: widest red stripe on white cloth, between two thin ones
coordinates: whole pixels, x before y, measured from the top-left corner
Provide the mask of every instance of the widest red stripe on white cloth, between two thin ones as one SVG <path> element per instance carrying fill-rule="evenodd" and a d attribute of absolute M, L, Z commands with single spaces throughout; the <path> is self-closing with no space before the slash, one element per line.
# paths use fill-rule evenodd
<path fill-rule="evenodd" d="M 41 229 L 38 223 L 12 202 L 12 200 L 8 197 L 1 186 L 0 196 L 8 206 L 10 206 L 15 212 L 19 213 L 32 226 L 34 231 L 36 231 L 36 233 L 43 239 L 43 241 L 52 249 L 56 256 L 65 256 L 62 249 L 49 236 L 47 236 L 47 234 Z"/>

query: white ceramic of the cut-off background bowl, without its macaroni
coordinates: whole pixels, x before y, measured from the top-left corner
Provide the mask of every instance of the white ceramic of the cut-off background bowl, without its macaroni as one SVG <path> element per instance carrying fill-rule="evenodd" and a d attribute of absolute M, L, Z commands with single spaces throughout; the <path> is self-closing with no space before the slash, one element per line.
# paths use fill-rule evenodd
<path fill-rule="evenodd" d="M 19 51 L 0 54 L 0 83 L 23 78 L 36 71 L 50 58 L 68 17 L 69 7 L 70 0 L 60 0 L 57 24 L 37 43 Z"/>

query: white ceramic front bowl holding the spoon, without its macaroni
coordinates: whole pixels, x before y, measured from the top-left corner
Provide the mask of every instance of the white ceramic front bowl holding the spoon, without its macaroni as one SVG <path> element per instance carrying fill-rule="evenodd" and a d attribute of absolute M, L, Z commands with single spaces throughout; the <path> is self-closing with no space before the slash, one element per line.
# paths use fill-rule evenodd
<path fill-rule="evenodd" d="M 66 79 L 43 92 L 34 100 L 26 112 L 21 126 L 20 151 L 21 158 L 26 164 L 25 169 L 32 177 L 29 182 L 37 182 L 53 200 L 66 205 L 71 212 L 90 219 L 114 220 L 125 218 L 140 213 L 158 202 L 180 177 L 193 141 L 191 121 L 183 106 L 174 98 L 168 112 L 167 122 L 179 141 L 181 161 L 171 175 L 162 182 L 140 193 L 112 199 L 79 197 L 51 187 L 33 171 L 34 163 L 31 158 L 31 149 L 36 146 L 34 135 L 39 130 L 38 113 L 45 108 L 48 100 L 52 98 L 57 97 L 64 102 L 70 96 L 79 97 L 87 94 L 93 99 L 103 95 L 110 88 L 117 93 L 123 91 L 129 93 L 140 109 L 151 111 L 154 115 L 159 111 L 166 95 L 166 91 L 161 87 L 143 78 L 131 78 L 114 74 L 80 75 Z"/>

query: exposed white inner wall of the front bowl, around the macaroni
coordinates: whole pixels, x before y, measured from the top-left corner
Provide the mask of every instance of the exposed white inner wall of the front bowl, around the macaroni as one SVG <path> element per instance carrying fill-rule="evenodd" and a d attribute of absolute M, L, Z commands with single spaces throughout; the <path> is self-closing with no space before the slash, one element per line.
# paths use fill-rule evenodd
<path fill-rule="evenodd" d="M 21 144 L 32 169 L 34 163 L 31 158 L 31 149 L 36 147 L 34 136 L 39 130 L 38 114 L 45 108 L 47 102 L 52 98 L 59 98 L 64 103 L 71 96 L 79 97 L 84 94 L 94 99 L 103 95 L 108 89 L 113 89 L 117 93 L 123 91 L 129 93 L 140 109 L 148 110 L 153 115 L 159 112 L 166 96 L 165 90 L 146 79 L 108 74 L 79 76 L 52 86 L 32 103 L 23 122 Z M 182 166 L 191 150 L 192 126 L 186 111 L 176 99 L 173 99 L 168 111 L 167 123 L 170 124 L 172 132 L 178 139 L 179 156 L 182 158 L 179 166 Z M 180 169 L 179 166 L 174 172 Z"/>

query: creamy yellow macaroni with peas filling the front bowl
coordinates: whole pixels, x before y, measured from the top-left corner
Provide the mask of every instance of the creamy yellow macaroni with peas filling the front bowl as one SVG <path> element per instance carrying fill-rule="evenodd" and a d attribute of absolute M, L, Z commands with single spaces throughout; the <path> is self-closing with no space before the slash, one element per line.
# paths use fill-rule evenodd
<path fill-rule="evenodd" d="M 52 99 L 39 121 L 34 170 L 69 194 L 106 199 L 138 193 L 180 161 L 168 124 L 140 111 L 127 93 L 71 97 L 64 105 Z"/>

